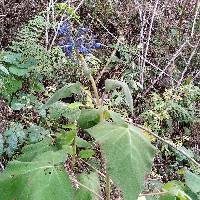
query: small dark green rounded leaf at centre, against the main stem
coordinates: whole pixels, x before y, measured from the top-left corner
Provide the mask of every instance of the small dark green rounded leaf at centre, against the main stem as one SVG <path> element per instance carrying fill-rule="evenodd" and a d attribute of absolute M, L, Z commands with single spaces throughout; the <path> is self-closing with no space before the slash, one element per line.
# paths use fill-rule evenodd
<path fill-rule="evenodd" d="M 96 109 L 81 110 L 81 114 L 77 122 L 82 129 L 87 129 L 92 126 L 95 126 L 100 122 L 100 115 L 98 110 Z"/>

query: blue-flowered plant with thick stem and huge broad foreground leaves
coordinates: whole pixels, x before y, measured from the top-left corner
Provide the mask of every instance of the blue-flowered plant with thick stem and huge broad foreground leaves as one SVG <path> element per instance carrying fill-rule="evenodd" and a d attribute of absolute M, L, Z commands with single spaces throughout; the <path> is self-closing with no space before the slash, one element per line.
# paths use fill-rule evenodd
<path fill-rule="evenodd" d="M 87 55 L 103 45 L 89 29 L 72 27 L 70 20 L 61 24 L 57 39 L 66 57 L 82 69 L 90 87 L 86 89 L 80 82 L 70 82 L 44 102 L 40 107 L 42 123 L 44 127 L 50 124 L 51 131 L 31 124 L 8 129 L 5 136 L 0 134 L 0 153 L 7 151 L 12 156 L 18 150 L 19 154 L 0 174 L 0 200 L 110 200 L 112 188 L 118 188 L 125 200 L 141 198 L 156 148 L 141 127 L 108 109 L 104 103 L 104 95 L 98 91 L 94 74 L 86 62 Z M 27 72 L 23 66 L 18 66 L 21 73 Z M 1 71 L 14 72 L 17 79 L 21 75 L 10 63 L 7 67 L 1 66 Z M 132 116 L 133 99 L 128 85 L 114 79 L 105 81 L 105 94 L 116 89 L 124 93 L 127 113 Z M 86 96 L 83 101 L 64 101 L 81 94 Z M 9 145 L 5 146 L 4 140 L 8 140 Z M 100 160 L 105 165 L 103 172 L 96 158 L 97 144 L 102 154 Z M 23 146 L 21 150 L 17 149 L 19 145 Z M 87 165 L 87 170 L 77 172 L 80 161 Z M 163 195 L 159 198 L 199 199 L 200 177 L 189 171 L 185 171 L 184 176 L 186 184 L 169 182 L 163 186 Z M 101 191 L 102 185 L 104 191 Z"/>

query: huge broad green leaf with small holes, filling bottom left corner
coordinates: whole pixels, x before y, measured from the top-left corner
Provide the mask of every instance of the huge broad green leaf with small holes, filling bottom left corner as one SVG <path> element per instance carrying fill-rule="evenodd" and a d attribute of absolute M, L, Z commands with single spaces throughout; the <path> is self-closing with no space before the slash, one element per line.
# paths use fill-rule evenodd
<path fill-rule="evenodd" d="M 30 154 L 30 149 L 26 153 Z M 37 153 L 37 156 L 31 155 L 32 161 L 24 157 L 23 161 L 10 162 L 0 174 L 0 200 L 73 199 L 72 185 L 62 166 L 65 152 Z"/>

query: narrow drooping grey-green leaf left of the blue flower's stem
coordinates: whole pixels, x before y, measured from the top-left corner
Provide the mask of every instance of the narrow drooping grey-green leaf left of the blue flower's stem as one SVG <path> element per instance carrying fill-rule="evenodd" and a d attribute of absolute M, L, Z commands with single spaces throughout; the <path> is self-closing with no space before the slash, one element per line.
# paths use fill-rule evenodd
<path fill-rule="evenodd" d="M 81 93 L 81 84 L 79 82 L 66 85 L 61 89 L 57 90 L 53 96 L 47 101 L 45 107 L 50 106 L 51 104 L 57 102 L 60 99 L 70 97 L 73 94 L 80 94 Z"/>

